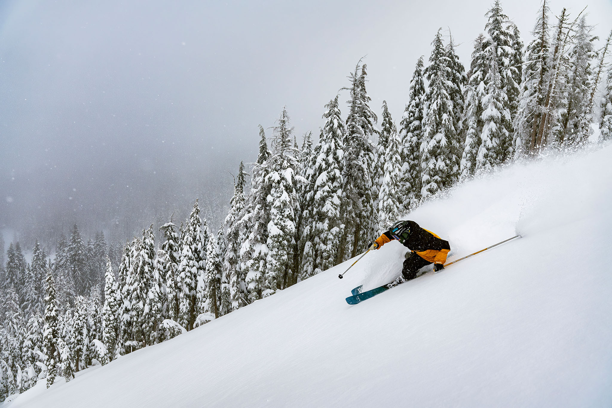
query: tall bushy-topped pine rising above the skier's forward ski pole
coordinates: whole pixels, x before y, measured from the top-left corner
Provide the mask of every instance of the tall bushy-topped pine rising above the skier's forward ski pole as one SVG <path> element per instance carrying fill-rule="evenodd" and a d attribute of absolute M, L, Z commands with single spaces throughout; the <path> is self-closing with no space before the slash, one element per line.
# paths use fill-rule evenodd
<path fill-rule="evenodd" d="M 345 225 L 337 262 L 344 261 L 345 253 L 356 256 L 375 236 L 378 225 L 375 219 L 372 195 L 373 152 L 370 136 L 376 133 L 374 124 L 378 120 L 370 108 L 370 96 L 365 90 L 366 65 L 357 62 L 355 71 L 349 75 L 348 89 L 351 100 L 346 118 L 346 134 L 343 145 L 343 197 L 340 218 Z"/>

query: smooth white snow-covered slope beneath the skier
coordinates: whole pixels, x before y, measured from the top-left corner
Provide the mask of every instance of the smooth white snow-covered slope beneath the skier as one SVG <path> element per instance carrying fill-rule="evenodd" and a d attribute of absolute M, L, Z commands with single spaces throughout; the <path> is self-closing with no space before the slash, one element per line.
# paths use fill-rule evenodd
<path fill-rule="evenodd" d="M 610 406 L 611 158 L 516 164 L 420 207 L 449 260 L 523 235 L 442 273 L 347 305 L 400 273 L 392 242 L 5 406 Z"/>

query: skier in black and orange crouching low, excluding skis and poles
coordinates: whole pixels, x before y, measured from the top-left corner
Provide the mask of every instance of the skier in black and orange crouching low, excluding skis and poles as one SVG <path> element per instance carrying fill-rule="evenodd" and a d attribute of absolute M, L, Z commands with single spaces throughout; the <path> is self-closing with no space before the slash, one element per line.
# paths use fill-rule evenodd
<path fill-rule="evenodd" d="M 449 254 L 450 245 L 448 241 L 441 239 L 433 232 L 420 228 L 419 224 L 414 221 L 397 221 L 368 247 L 378 250 L 393 239 L 397 239 L 410 251 L 406 253 L 406 261 L 404 261 L 404 267 L 401 269 L 401 276 L 387 284 L 389 288 L 416 278 L 419 269 L 425 265 L 433 263 L 433 269 L 436 272 L 444 269 L 444 262 L 446 262 L 446 256 Z"/>

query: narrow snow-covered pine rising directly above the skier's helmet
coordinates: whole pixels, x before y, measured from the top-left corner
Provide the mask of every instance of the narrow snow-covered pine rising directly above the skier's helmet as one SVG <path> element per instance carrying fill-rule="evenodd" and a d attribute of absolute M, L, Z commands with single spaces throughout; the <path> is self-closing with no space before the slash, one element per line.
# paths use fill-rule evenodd
<path fill-rule="evenodd" d="M 387 103 L 383 101 L 383 128 L 381 134 L 389 140 L 384 155 L 383 186 L 379 193 L 378 220 L 381 230 L 389 228 L 400 215 L 401 210 L 401 144 L 400 137 L 391 115 L 387 110 Z"/>

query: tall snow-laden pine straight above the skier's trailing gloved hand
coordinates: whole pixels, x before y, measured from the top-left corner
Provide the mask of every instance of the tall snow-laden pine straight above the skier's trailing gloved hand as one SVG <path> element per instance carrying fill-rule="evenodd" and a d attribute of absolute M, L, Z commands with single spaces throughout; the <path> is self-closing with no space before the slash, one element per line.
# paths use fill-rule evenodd
<path fill-rule="evenodd" d="M 457 180 L 459 171 L 457 133 L 453 127 L 455 119 L 447 73 L 449 57 L 440 32 L 441 29 L 431 43 L 430 65 L 425 69 L 430 89 L 426 95 L 425 137 L 420 146 L 421 195 L 424 197 L 450 187 Z"/>

